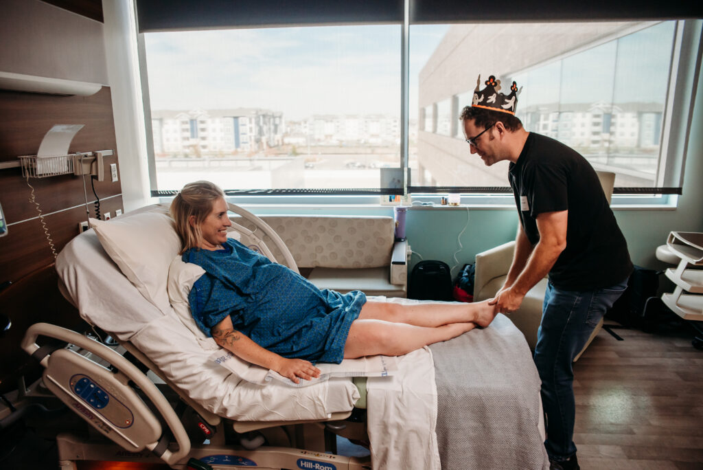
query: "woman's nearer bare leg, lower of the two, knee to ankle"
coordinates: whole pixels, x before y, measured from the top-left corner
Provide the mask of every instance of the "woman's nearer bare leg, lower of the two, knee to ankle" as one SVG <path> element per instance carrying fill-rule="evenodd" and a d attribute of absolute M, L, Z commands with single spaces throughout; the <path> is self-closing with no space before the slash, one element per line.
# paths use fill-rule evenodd
<path fill-rule="evenodd" d="M 474 323 L 450 323 L 442 326 L 415 326 L 378 319 L 356 319 L 344 344 L 344 358 L 382 354 L 399 356 L 423 346 L 446 341 L 474 329 Z"/>

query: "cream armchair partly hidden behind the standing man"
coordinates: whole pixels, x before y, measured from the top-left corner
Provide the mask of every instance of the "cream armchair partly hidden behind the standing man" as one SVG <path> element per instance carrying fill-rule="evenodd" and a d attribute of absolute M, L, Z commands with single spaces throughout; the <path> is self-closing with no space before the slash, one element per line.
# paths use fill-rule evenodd
<path fill-rule="evenodd" d="M 615 174 L 612 172 L 596 172 L 600 184 L 605 192 L 605 198 L 610 203 L 612 196 Z M 503 286 L 505 278 L 508 277 L 508 270 L 512 263 L 512 254 L 515 251 L 515 241 L 503 243 L 501 246 L 496 246 L 490 250 L 476 255 L 475 279 L 474 279 L 474 301 L 486 300 L 493 298 L 498 290 Z M 529 290 L 522 305 L 516 312 L 510 314 L 510 319 L 517 326 L 517 329 L 522 331 L 527 344 L 531 350 L 537 343 L 537 329 L 542 319 L 542 303 L 544 293 L 547 289 L 547 278 L 541 279 L 533 288 Z M 593 338 L 598 335 L 603 324 L 601 319 L 598 326 L 595 327 L 591 337 L 586 341 L 581 352 L 574 358 L 574 362 L 581 357 L 583 351 L 588 348 Z"/>

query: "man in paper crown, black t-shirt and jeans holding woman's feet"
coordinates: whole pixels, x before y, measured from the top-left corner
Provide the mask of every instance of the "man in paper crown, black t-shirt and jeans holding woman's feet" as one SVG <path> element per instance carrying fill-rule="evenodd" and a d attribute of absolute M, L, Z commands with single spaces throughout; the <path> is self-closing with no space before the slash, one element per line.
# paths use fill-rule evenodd
<path fill-rule="evenodd" d="M 480 80 L 472 106 L 460 117 L 466 141 L 486 166 L 510 162 L 508 179 L 520 215 L 508 277 L 490 303 L 496 312 L 515 312 L 527 291 L 549 274 L 534 351 L 547 416 L 545 447 L 551 469 L 579 469 L 572 363 L 625 290 L 632 262 L 588 161 L 522 127 L 515 117 L 515 82 L 506 96 L 498 93 L 501 82 L 493 75 L 482 90 Z"/>

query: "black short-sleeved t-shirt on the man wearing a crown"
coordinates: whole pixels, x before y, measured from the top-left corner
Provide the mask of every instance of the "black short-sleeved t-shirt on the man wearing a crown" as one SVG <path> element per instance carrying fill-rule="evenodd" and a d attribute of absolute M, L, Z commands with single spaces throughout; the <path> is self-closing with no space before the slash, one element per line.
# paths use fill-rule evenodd
<path fill-rule="evenodd" d="M 627 242 L 600 186 L 598 174 L 578 152 L 540 134 L 527 136 L 517 163 L 510 163 L 510 186 L 520 222 L 533 245 L 536 217 L 568 210 L 567 247 L 549 272 L 566 291 L 612 286 L 633 266 Z"/>

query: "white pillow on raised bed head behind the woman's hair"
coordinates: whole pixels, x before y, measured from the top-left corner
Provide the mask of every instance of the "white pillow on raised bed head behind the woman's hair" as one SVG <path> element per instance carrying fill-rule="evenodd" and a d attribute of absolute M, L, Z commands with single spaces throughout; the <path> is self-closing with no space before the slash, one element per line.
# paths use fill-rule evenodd
<path fill-rule="evenodd" d="M 153 206 L 112 220 L 91 219 L 98 240 L 139 292 L 167 315 L 168 270 L 181 241 L 167 209 Z"/>

